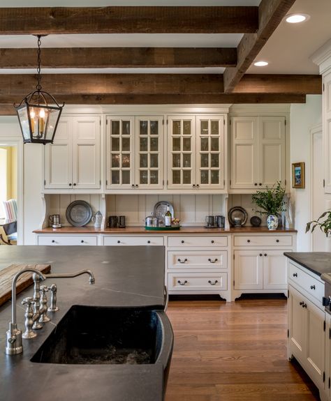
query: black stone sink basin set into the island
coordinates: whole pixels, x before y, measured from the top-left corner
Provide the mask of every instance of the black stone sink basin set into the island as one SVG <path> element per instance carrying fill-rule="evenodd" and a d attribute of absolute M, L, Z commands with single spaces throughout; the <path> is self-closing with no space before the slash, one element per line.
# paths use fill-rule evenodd
<path fill-rule="evenodd" d="M 31 362 L 156 363 L 164 335 L 159 315 L 144 308 L 73 305 Z"/>

